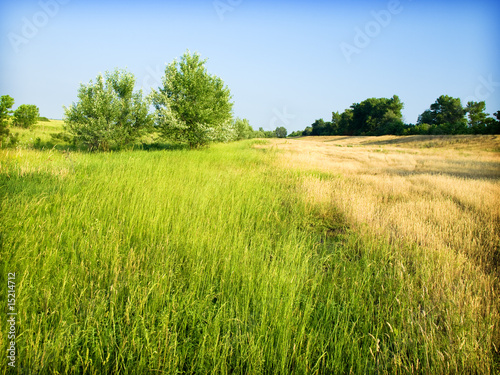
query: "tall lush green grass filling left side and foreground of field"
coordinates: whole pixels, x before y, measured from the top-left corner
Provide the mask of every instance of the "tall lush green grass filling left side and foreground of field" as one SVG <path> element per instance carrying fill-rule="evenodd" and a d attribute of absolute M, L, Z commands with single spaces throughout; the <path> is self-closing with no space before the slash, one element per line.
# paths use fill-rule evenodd
<path fill-rule="evenodd" d="M 479 286 L 436 285 L 439 255 L 304 203 L 303 175 L 252 144 L 0 150 L 0 300 L 15 272 L 15 372 L 498 370 L 495 322 L 450 302 L 469 288 L 483 303 Z M 5 354 L 0 363 L 6 373 Z"/>

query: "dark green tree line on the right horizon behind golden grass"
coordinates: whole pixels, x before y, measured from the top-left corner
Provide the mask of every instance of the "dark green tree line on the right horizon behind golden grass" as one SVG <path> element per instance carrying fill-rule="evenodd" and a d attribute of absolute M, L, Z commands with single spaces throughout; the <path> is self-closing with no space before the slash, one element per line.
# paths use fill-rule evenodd
<path fill-rule="evenodd" d="M 366 99 L 343 113 L 333 112 L 331 121 L 316 120 L 290 136 L 500 134 L 500 111 L 490 116 L 484 101 L 469 101 L 464 108 L 459 98 L 442 95 L 418 117 L 416 124 L 403 122 L 403 106 L 397 95 Z"/>

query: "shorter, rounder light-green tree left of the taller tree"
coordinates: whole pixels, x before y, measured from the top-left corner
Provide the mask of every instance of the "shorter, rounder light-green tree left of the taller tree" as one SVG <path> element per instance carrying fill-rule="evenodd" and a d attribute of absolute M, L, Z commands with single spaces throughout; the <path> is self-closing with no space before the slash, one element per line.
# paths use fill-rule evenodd
<path fill-rule="evenodd" d="M 125 70 L 99 74 L 80 85 L 79 101 L 65 108 L 66 129 L 90 150 L 129 145 L 151 129 L 149 103 L 134 92 L 135 77 Z"/>

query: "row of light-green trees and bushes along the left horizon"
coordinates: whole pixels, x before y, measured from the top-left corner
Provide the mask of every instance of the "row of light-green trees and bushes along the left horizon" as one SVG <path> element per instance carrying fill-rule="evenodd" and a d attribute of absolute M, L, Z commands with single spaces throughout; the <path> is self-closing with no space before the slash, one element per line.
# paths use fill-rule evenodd
<path fill-rule="evenodd" d="M 199 54 L 187 51 L 179 61 L 167 65 L 162 86 L 148 96 L 134 90 L 135 77 L 126 70 L 99 74 L 95 81 L 80 85 L 76 103 L 64 107 L 67 133 L 54 138 L 89 150 L 107 151 L 132 145 L 148 134 L 190 148 L 211 142 L 287 136 L 284 127 L 255 131 L 247 119 L 233 118 L 229 88 L 207 72 L 205 63 Z M 9 136 L 8 117 L 13 104 L 9 96 L 2 97 L 3 138 Z M 15 126 L 17 113 L 23 112 L 21 107 L 14 113 Z M 32 125 L 26 123 L 25 127 Z"/>

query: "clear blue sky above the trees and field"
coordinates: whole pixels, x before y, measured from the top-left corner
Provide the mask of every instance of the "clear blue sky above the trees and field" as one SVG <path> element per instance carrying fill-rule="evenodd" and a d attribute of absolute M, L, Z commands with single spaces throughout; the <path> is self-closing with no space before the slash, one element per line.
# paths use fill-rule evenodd
<path fill-rule="evenodd" d="M 187 49 L 254 129 L 304 129 L 398 95 L 408 123 L 443 94 L 500 110 L 498 1 L 0 0 L 0 95 L 60 119 L 80 83 L 127 68 L 158 87 Z"/>

